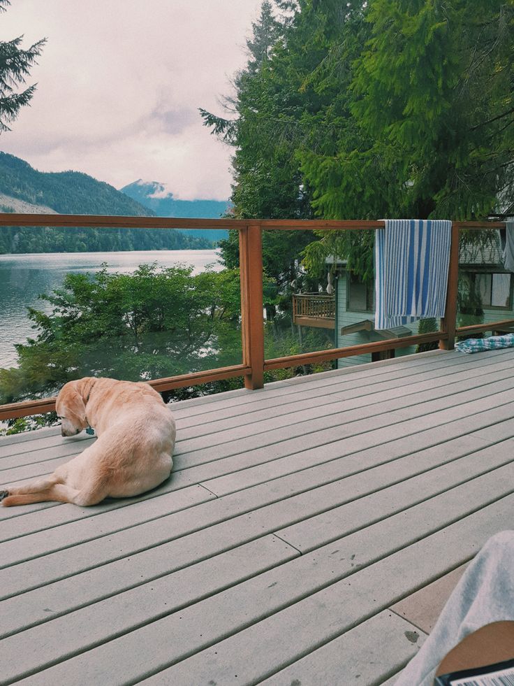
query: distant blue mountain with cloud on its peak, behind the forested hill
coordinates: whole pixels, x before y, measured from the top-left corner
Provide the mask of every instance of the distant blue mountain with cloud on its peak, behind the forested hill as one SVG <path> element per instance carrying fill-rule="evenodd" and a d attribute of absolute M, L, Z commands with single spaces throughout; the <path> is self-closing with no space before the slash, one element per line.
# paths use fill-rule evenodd
<path fill-rule="evenodd" d="M 219 219 L 230 209 L 228 200 L 177 200 L 166 184 L 159 181 L 143 181 L 138 179 L 120 189 L 141 205 L 152 210 L 158 217 L 202 217 L 205 219 Z M 188 234 L 205 238 L 208 235 L 212 241 L 227 238 L 228 231 L 223 229 L 188 229 Z"/>

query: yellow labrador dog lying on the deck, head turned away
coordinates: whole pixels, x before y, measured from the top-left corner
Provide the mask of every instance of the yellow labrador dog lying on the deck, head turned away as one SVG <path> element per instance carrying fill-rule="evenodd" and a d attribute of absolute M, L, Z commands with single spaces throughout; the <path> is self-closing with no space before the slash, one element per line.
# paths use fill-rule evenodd
<path fill-rule="evenodd" d="M 175 420 L 147 383 L 106 378 L 70 381 L 57 396 L 61 434 L 94 427 L 98 439 L 50 476 L 0 491 L 2 505 L 57 500 L 96 505 L 135 496 L 170 476 Z"/>

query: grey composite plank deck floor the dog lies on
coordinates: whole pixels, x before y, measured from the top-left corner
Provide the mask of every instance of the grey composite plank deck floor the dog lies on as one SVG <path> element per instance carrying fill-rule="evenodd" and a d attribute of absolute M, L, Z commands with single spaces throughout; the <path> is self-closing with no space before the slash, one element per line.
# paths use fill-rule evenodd
<path fill-rule="evenodd" d="M 394 683 L 514 528 L 514 350 L 430 352 L 174 406 L 172 478 L 0 508 L 0 683 Z M 0 439 L 0 485 L 91 438 Z"/>

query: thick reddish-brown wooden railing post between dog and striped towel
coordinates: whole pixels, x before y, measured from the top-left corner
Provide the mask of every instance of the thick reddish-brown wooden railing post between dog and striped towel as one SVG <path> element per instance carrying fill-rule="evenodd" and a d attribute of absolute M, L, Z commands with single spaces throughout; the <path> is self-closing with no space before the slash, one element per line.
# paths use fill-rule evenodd
<path fill-rule="evenodd" d="M 240 231 L 243 364 L 251 367 L 244 386 L 264 385 L 263 238 L 258 223 Z"/>

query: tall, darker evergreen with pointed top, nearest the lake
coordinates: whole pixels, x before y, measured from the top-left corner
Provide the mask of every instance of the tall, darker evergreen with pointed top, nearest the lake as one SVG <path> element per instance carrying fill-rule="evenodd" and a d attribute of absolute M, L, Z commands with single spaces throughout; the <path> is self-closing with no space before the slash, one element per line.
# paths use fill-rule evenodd
<path fill-rule="evenodd" d="M 309 189 L 295 159 L 294 110 L 302 96 L 299 83 L 288 86 L 284 70 L 275 72 L 275 55 L 285 49 L 286 4 L 264 0 L 247 40 L 248 62 L 234 80 L 235 95 L 223 100 L 230 118 L 200 110 L 212 133 L 235 148 L 231 200 L 237 218 L 307 219 L 312 217 Z M 293 124 L 294 125 L 294 124 Z M 263 262 L 267 276 L 287 294 L 298 276 L 298 262 L 310 231 L 265 231 Z M 221 241 L 223 260 L 237 266 L 237 235 Z M 270 292 L 270 299 L 272 294 Z M 286 295 L 287 298 L 287 295 Z M 284 299 L 284 302 L 286 299 Z"/>

